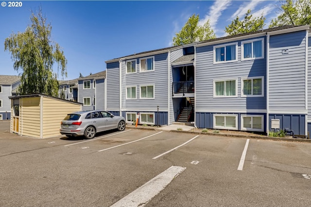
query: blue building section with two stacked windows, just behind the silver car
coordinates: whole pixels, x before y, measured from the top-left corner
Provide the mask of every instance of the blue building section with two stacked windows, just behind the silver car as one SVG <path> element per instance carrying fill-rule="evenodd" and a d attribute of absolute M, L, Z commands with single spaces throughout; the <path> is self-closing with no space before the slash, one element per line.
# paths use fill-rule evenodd
<path fill-rule="evenodd" d="M 104 110 L 106 71 L 78 78 L 78 102 L 82 110 Z"/>

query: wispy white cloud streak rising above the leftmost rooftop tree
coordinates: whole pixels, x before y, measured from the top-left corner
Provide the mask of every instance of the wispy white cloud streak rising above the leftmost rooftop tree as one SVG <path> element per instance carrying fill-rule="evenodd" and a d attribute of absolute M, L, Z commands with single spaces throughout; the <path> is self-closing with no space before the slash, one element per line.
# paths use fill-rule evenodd
<path fill-rule="evenodd" d="M 217 31 L 216 25 L 219 17 L 222 15 L 222 12 L 227 9 L 231 5 L 231 0 L 217 0 L 214 4 L 210 7 L 210 10 L 207 15 L 203 19 L 199 20 L 199 25 L 204 25 L 205 22 L 209 19 L 210 27 Z"/>

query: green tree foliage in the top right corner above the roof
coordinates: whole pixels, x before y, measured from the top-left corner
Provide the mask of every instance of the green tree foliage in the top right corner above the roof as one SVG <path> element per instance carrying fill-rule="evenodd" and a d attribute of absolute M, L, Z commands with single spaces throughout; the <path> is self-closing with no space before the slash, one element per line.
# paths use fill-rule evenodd
<path fill-rule="evenodd" d="M 286 0 L 276 5 L 280 15 L 271 20 L 269 28 L 283 25 L 309 25 L 311 24 L 310 0 Z"/>

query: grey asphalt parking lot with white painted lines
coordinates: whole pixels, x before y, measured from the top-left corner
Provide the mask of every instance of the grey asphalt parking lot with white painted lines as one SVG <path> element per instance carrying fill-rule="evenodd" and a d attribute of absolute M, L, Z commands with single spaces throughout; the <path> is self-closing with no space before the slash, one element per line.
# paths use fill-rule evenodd
<path fill-rule="evenodd" d="M 311 206 L 311 143 L 131 128 L 35 139 L 0 130 L 0 206 Z M 172 169 L 180 171 L 170 179 Z"/>

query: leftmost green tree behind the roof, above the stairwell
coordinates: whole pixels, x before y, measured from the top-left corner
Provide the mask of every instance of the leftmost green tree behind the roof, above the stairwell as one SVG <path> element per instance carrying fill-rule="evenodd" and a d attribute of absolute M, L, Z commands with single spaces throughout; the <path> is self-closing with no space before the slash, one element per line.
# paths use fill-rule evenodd
<path fill-rule="evenodd" d="M 209 25 L 209 19 L 203 26 L 199 26 L 199 15 L 193 14 L 179 33 L 173 37 L 173 45 L 185 45 L 193 42 L 216 38 Z"/>

